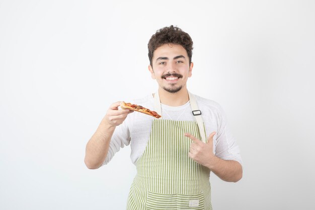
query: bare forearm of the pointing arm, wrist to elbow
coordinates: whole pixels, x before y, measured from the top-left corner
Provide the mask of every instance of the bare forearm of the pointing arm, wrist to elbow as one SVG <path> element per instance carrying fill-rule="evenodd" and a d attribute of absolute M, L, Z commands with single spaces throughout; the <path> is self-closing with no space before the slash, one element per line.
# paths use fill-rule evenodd
<path fill-rule="evenodd" d="M 227 182 L 237 182 L 243 176 L 242 165 L 237 161 L 222 160 L 214 156 L 213 161 L 207 167 L 220 179 Z"/>

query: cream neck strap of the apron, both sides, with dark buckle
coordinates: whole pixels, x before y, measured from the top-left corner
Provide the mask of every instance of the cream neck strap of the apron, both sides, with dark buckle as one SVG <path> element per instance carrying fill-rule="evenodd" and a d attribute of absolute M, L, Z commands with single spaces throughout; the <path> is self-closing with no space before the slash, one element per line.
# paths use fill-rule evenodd
<path fill-rule="evenodd" d="M 188 92 L 188 96 L 189 96 L 189 100 L 190 100 L 190 106 L 191 106 L 191 109 L 192 109 L 192 113 L 193 113 L 193 115 L 195 117 L 195 120 L 196 120 L 198 128 L 199 128 L 201 140 L 202 140 L 202 142 L 206 143 L 207 137 L 206 137 L 206 132 L 205 132 L 205 128 L 204 128 L 204 125 L 203 125 L 203 119 L 201 117 L 201 111 L 198 108 L 195 96 L 193 94 L 191 94 L 190 92 Z M 162 109 L 161 109 L 161 102 L 160 102 L 159 91 L 157 91 L 154 94 L 154 111 L 157 112 L 157 114 L 160 114 L 162 116 Z M 162 117 L 160 119 L 162 119 Z"/>

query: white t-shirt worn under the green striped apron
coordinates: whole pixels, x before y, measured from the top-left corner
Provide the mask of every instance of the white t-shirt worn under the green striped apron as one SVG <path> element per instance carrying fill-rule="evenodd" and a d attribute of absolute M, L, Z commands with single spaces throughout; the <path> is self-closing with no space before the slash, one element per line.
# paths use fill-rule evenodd
<path fill-rule="evenodd" d="M 223 160 L 238 161 L 242 164 L 239 147 L 227 128 L 226 118 L 221 106 L 212 100 L 196 95 L 195 98 L 202 113 L 206 136 L 208 137 L 213 131 L 216 132 L 213 137 L 213 152 L 215 156 Z M 152 95 L 131 101 L 131 103 L 154 110 L 154 98 Z M 161 109 L 162 119 L 195 121 L 190 102 L 177 107 L 161 104 Z M 132 163 L 135 164 L 146 148 L 153 119 L 155 118 L 139 112 L 128 114 L 125 121 L 117 126 L 113 133 L 104 164 L 107 164 L 120 148 L 129 144 L 131 146 L 130 158 Z"/>

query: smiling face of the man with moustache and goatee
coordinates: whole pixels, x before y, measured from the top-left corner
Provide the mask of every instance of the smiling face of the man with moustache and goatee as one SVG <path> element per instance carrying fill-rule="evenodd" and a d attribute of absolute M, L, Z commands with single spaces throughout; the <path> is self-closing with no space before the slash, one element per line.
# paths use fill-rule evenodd
<path fill-rule="evenodd" d="M 189 57 L 185 48 L 179 44 L 164 44 L 153 52 L 152 65 L 149 71 L 152 79 L 159 84 L 159 88 L 169 93 L 186 90 L 186 82 L 191 77 L 193 63 L 189 64 Z"/>

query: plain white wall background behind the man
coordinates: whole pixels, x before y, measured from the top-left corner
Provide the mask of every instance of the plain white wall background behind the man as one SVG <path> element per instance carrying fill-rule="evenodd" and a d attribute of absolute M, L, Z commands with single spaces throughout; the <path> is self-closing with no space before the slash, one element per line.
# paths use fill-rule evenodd
<path fill-rule="evenodd" d="M 315 2 L 0 1 L 0 209 L 124 209 L 130 148 L 89 170 L 115 101 L 157 89 L 147 42 L 194 41 L 188 89 L 220 103 L 243 179 L 211 175 L 214 209 L 314 209 Z"/>

